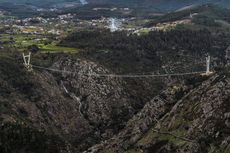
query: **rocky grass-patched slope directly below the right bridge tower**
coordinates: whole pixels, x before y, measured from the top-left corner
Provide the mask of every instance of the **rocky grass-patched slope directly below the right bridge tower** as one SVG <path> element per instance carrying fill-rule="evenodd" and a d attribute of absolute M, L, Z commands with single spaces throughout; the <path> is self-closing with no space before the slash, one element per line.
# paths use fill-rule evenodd
<path fill-rule="evenodd" d="M 227 75 L 214 75 L 178 101 L 136 143 L 143 152 L 229 152 L 229 87 Z M 157 131 L 156 131 L 157 129 Z M 165 142 L 156 148 L 159 143 Z M 223 145 L 224 144 L 224 145 Z M 170 146 L 170 147 L 169 147 Z M 221 146 L 221 147 L 220 147 Z"/>

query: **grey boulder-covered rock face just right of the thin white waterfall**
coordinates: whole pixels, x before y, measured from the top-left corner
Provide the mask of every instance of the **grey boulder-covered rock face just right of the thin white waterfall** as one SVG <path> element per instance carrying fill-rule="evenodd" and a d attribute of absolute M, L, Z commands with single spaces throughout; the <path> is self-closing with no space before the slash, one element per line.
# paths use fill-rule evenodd
<path fill-rule="evenodd" d="M 66 89 L 79 98 L 82 117 L 95 128 L 103 130 L 110 127 L 109 132 L 121 126 L 133 114 L 134 100 L 123 89 L 124 82 L 121 79 L 93 76 L 109 74 L 105 68 L 80 60 L 60 60 L 54 67 L 73 72 L 62 73 L 59 77 Z"/>

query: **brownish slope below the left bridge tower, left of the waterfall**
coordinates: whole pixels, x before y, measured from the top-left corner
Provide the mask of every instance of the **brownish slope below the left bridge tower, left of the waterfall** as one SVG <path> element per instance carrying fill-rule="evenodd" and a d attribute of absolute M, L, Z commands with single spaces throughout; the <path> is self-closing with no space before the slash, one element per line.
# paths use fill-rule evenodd
<path fill-rule="evenodd" d="M 65 94 L 52 74 L 26 72 L 24 67 L 7 61 L 1 61 L 1 65 L 1 123 L 44 131 L 70 142 L 91 134 L 92 127 L 80 115 L 79 104 Z"/>

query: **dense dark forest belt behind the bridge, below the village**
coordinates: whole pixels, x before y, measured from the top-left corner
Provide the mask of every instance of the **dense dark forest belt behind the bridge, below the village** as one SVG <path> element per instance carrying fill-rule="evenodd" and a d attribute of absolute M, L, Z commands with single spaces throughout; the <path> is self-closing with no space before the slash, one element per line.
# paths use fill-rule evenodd
<path fill-rule="evenodd" d="M 223 57 L 228 38 L 226 34 L 212 34 L 208 30 L 154 31 L 141 36 L 96 30 L 73 33 L 60 45 L 80 48 L 84 57 L 112 69 L 119 67 L 120 71 L 146 72 L 159 69 L 163 62 L 159 53 L 169 57 L 181 53 L 197 56 L 210 53 Z"/>

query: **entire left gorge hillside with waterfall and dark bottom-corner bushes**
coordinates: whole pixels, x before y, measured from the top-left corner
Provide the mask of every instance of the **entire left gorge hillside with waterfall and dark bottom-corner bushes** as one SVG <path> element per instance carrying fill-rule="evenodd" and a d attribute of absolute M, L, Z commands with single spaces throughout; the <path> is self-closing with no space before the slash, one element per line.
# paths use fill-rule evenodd
<path fill-rule="evenodd" d="M 33 63 L 76 73 L 36 68 L 28 72 L 21 57 L 1 56 L 3 153 L 83 151 L 122 129 L 160 88 L 145 88 L 148 82 L 143 80 L 89 77 L 84 74 L 111 72 L 94 62 L 65 55 L 35 56 Z M 163 85 L 159 79 L 149 81 Z"/>

